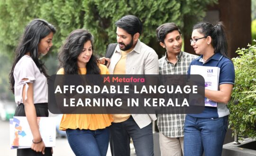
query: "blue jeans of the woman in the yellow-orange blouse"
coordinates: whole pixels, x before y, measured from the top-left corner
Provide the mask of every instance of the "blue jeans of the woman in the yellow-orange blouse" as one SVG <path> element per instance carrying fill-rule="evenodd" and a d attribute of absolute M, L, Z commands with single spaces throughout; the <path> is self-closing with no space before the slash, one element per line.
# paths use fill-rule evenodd
<path fill-rule="evenodd" d="M 76 156 L 106 156 L 109 128 L 99 130 L 66 130 L 68 143 Z"/>

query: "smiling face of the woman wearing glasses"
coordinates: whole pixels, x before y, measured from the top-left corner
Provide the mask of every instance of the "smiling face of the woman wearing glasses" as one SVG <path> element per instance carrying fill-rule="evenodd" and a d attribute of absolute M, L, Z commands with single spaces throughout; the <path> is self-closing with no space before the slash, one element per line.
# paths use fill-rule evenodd
<path fill-rule="evenodd" d="M 191 42 L 191 46 L 194 48 L 194 51 L 196 54 L 204 55 L 205 52 L 207 52 L 208 43 L 210 42 L 210 36 L 207 36 L 206 38 L 203 38 L 204 35 L 199 32 L 198 29 L 194 29 L 192 32 L 192 40 L 199 39 L 196 41 L 196 43 Z"/>

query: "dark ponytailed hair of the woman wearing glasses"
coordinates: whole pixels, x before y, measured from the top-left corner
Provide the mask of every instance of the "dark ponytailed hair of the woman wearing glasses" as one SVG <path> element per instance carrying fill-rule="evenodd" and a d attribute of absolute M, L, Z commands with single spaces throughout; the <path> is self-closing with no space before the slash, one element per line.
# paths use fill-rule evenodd
<path fill-rule="evenodd" d="M 193 26 L 193 30 L 198 29 L 198 32 L 204 36 L 211 37 L 211 44 L 214 48 L 214 53 L 220 52 L 226 58 L 228 57 L 228 42 L 222 22 L 212 25 L 208 22 L 200 22 Z"/>

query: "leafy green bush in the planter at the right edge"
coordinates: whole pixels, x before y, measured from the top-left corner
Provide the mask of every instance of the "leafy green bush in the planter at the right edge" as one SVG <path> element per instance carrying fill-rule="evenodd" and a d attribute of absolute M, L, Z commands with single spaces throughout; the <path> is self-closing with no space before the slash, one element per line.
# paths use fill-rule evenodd
<path fill-rule="evenodd" d="M 229 128 L 237 131 L 239 139 L 256 139 L 256 45 L 248 44 L 247 49 L 236 52 L 240 56 L 232 59 L 236 80 L 228 105 Z"/>

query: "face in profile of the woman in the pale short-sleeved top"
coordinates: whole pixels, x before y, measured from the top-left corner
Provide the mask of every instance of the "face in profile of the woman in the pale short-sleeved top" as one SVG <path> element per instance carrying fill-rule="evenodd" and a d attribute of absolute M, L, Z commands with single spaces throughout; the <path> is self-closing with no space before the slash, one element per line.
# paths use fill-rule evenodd
<path fill-rule="evenodd" d="M 38 53 L 46 55 L 49 52 L 50 48 L 53 46 L 53 32 L 47 35 L 45 38 L 42 38 L 38 43 Z"/>

